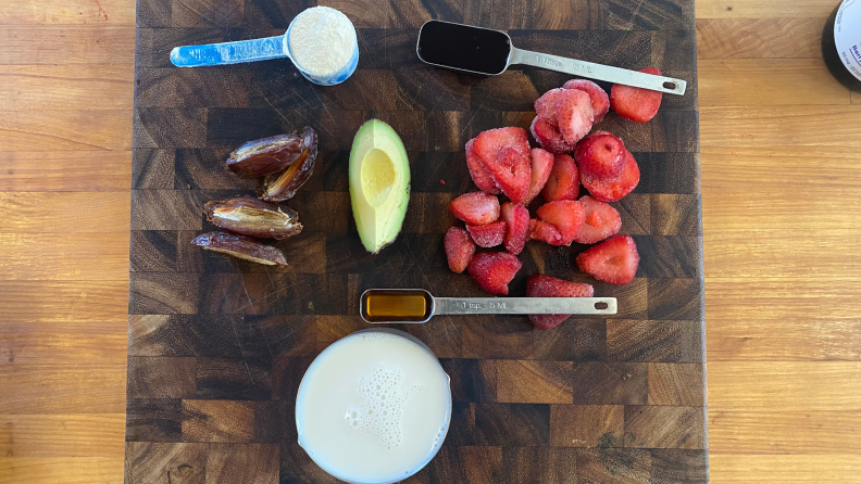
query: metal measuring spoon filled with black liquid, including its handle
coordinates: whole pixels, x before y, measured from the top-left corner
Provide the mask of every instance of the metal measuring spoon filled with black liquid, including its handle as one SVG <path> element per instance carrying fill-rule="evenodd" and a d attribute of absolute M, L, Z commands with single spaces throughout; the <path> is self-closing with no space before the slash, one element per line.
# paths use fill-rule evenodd
<path fill-rule="evenodd" d="M 504 31 L 452 22 L 425 22 L 415 51 L 427 64 L 488 76 L 525 64 L 670 94 L 682 95 L 687 87 L 682 79 L 517 49 Z"/>

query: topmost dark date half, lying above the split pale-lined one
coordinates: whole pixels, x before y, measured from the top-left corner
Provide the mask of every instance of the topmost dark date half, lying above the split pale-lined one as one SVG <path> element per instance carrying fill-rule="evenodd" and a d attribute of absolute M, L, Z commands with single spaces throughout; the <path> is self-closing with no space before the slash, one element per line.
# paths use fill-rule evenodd
<path fill-rule="evenodd" d="M 305 127 L 301 135 L 278 135 L 242 144 L 230 153 L 227 168 L 239 178 L 265 177 L 284 171 L 311 151 L 316 155 L 316 133 Z"/>

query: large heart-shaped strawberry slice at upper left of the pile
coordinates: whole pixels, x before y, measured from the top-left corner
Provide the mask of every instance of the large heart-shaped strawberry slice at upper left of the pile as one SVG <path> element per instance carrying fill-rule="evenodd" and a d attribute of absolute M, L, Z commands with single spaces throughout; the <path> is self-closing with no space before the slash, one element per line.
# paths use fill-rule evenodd
<path fill-rule="evenodd" d="M 502 192 L 523 203 L 529 191 L 529 139 L 523 128 L 488 129 L 475 138 L 475 153 Z"/>

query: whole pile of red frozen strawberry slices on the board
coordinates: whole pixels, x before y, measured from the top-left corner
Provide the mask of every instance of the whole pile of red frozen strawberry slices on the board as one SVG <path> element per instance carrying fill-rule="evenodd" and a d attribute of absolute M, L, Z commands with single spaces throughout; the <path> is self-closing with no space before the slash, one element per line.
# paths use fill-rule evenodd
<path fill-rule="evenodd" d="M 654 67 L 641 72 L 660 75 Z M 616 202 L 639 183 L 639 167 L 625 143 L 608 131 L 589 132 L 610 109 L 624 118 L 647 122 L 661 104 L 661 93 L 615 85 L 608 97 L 598 85 L 572 79 L 535 101 L 537 116 L 529 131 L 541 148 L 531 148 L 526 130 L 489 129 L 466 143 L 466 165 L 479 191 L 451 201 L 451 214 L 465 228 L 445 237 L 449 268 L 466 270 L 491 294 L 509 293 L 522 265 L 526 242 L 550 245 L 598 244 L 577 256 L 581 270 L 611 284 L 634 280 L 637 245 L 619 235 L 622 219 L 608 202 Z M 572 156 L 573 155 L 573 156 Z M 581 184 L 588 194 L 581 196 Z M 498 195 L 508 198 L 500 204 Z M 538 194 L 545 203 L 531 217 L 527 206 Z M 599 243 L 600 242 L 600 243 Z M 502 245 L 504 251 L 476 252 Z M 590 284 L 544 275 L 526 283 L 529 297 L 591 297 Z M 538 329 L 560 324 L 570 315 L 531 315 Z"/>

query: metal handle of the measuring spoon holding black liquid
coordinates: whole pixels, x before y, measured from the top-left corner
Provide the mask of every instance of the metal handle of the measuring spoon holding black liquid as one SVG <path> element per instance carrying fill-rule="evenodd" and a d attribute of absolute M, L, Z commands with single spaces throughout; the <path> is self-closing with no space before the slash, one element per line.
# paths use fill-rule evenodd
<path fill-rule="evenodd" d="M 509 64 L 526 64 L 535 67 L 548 68 L 560 73 L 573 74 L 591 79 L 606 80 L 613 84 L 624 84 L 635 88 L 650 89 L 682 95 L 685 93 L 687 82 L 672 77 L 653 76 L 610 65 L 595 64 L 592 62 L 577 61 L 559 55 L 544 54 L 529 50 L 511 48 Z"/>

